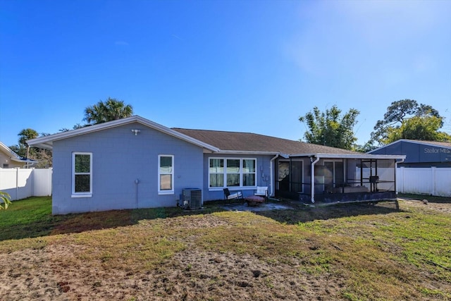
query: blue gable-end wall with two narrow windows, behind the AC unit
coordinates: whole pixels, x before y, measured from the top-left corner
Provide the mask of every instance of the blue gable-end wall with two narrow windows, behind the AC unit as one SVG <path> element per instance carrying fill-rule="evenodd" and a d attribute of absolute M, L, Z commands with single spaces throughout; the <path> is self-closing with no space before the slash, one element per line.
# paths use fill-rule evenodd
<path fill-rule="evenodd" d="M 71 196 L 73 152 L 92 153 L 92 197 Z M 173 195 L 158 193 L 159 154 L 174 156 Z M 138 123 L 54 141 L 53 160 L 53 214 L 175 207 L 183 188 L 203 187 L 201 147 Z"/>

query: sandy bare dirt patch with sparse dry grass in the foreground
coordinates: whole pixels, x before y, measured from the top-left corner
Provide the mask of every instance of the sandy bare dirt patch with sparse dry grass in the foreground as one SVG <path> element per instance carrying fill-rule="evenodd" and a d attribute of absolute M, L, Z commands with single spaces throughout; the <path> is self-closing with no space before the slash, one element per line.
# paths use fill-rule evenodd
<path fill-rule="evenodd" d="M 146 272 L 108 271 L 73 265 L 73 247 L 1 255 L 8 279 L 1 300 L 328 300 L 344 285 L 303 275 L 297 265 L 202 250 L 180 252 Z"/>

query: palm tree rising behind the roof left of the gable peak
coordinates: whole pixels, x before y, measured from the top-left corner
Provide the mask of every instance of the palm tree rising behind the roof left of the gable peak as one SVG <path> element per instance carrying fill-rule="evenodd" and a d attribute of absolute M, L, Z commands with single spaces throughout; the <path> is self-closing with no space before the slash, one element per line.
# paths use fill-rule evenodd
<path fill-rule="evenodd" d="M 89 125 L 115 121 L 133 115 L 133 108 L 130 104 L 125 105 L 123 101 L 108 97 L 105 102 L 99 101 L 93 106 L 85 109 L 84 121 Z"/>

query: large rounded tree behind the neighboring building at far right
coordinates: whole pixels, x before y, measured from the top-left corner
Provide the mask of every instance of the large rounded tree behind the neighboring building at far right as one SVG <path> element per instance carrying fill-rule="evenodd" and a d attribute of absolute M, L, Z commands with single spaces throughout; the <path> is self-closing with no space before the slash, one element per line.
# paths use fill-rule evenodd
<path fill-rule="evenodd" d="M 432 106 L 418 104 L 416 100 L 392 102 L 383 117 L 373 128 L 369 142 L 371 145 L 385 145 L 402 138 L 433 141 L 446 139 L 446 134 L 435 135 L 440 133 L 437 131 L 443 126 L 443 117 Z"/>

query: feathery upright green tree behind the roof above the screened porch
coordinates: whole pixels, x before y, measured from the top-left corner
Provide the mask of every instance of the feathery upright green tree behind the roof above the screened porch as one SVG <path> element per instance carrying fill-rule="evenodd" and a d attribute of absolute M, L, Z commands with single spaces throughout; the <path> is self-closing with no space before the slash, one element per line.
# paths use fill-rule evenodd
<path fill-rule="evenodd" d="M 335 105 L 325 112 L 315 106 L 313 111 L 299 117 L 299 121 L 306 123 L 309 128 L 304 133 L 305 140 L 317 145 L 354 149 L 357 141 L 354 125 L 357 124 L 359 111 L 350 109 L 344 115 L 341 112 Z"/>

